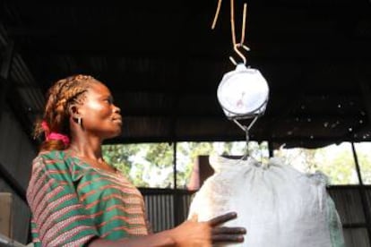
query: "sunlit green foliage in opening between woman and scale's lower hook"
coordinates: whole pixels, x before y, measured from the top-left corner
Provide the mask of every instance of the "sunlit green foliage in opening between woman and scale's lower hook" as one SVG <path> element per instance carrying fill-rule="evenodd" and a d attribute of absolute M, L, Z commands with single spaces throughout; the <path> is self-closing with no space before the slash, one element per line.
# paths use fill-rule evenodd
<path fill-rule="evenodd" d="M 259 153 L 259 145 L 250 147 Z M 168 143 L 145 143 L 129 145 L 104 145 L 105 160 L 138 187 L 174 187 L 174 148 Z M 211 153 L 238 155 L 245 153 L 243 142 L 178 142 L 177 187 L 189 183 L 194 161 L 200 155 Z"/>

